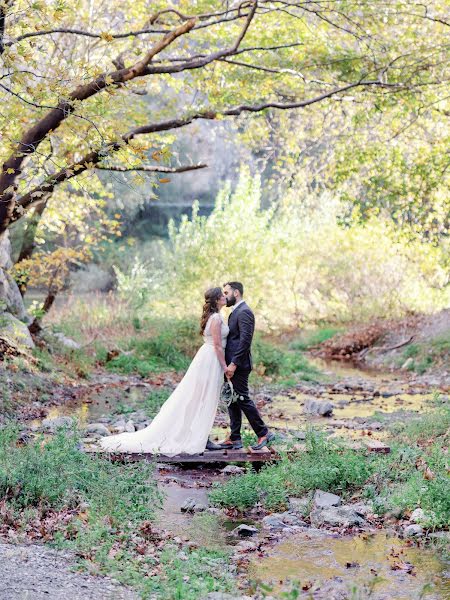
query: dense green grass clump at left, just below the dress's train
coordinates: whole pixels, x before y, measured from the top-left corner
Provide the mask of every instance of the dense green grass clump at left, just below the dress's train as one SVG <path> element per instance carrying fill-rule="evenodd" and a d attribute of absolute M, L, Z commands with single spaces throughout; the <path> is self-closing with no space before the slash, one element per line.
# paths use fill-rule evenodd
<path fill-rule="evenodd" d="M 14 508 L 46 512 L 87 502 L 96 519 L 153 516 L 158 494 L 150 465 L 128 468 L 85 454 L 73 431 L 59 430 L 45 444 L 37 439 L 23 447 L 16 446 L 17 435 L 13 426 L 0 429 L 0 495 Z"/>

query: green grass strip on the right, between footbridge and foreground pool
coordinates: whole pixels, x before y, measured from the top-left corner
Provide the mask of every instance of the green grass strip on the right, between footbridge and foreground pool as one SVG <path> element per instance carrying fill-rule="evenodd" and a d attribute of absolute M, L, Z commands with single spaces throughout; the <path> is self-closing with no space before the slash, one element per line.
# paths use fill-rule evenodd
<path fill-rule="evenodd" d="M 259 473 L 248 472 L 216 484 L 210 494 L 217 506 L 245 511 L 257 503 L 269 510 L 285 509 L 289 496 L 317 488 L 345 497 L 358 493 L 374 503 L 376 512 L 401 512 L 422 507 L 429 527 L 450 525 L 448 430 L 450 408 L 403 424 L 392 432 L 391 453 L 377 455 L 346 449 L 309 431 L 306 452 L 284 456 Z"/>

